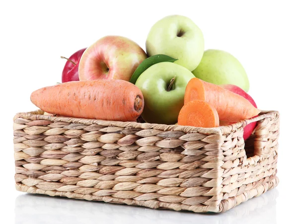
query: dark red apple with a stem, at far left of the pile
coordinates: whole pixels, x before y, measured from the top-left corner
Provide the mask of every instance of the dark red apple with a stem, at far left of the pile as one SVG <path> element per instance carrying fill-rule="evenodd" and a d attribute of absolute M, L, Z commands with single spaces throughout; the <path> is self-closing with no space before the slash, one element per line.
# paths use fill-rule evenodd
<path fill-rule="evenodd" d="M 70 58 L 62 57 L 67 60 L 62 72 L 62 82 L 78 81 L 78 64 L 79 60 L 87 48 L 75 52 Z"/>

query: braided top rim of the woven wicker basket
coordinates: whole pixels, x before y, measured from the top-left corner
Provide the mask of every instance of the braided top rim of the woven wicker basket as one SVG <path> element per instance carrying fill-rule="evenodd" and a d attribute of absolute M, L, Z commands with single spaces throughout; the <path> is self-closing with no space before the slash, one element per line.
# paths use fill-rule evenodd
<path fill-rule="evenodd" d="M 150 123 L 138 123 L 138 122 L 122 122 L 122 121 L 105 121 L 97 119 L 85 119 L 85 118 L 74 118 L 74 117 L 58 117 L 51 115 L 44 115 L 44 111 L 41 109 L 17 113 L 13 117 L 13 121 L 21 117 L 30 120 L 50 120 L 50 121 L 62 121 L 68 123 L 80 123 L 80 124 L 97 124 L 102 126 L 117 126 L 122 128 L 140 128 L 140 129 L 155 129 L 159 131 L 180 131 L 184 133 L 202 133 L 202 134 L 218 134 L 224 135 L 230 133 L 232 130 L 243 128 L 246 125 L 262 120 L 264 118 L 275 118 L 279 116 L 279 112 L 275 110 L 261 110 L 259 116 L 238 121 L 237 123 L 220 126 L 217 128 L 199 128 L 193 126 L 181 126 L 181 125 L 165 125 L 165 124 L 150 124 Z"/>

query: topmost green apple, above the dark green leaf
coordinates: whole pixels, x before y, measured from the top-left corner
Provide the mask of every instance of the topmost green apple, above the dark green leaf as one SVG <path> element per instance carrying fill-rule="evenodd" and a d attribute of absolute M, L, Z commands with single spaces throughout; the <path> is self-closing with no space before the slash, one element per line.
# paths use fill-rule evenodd
<path fill-rule="evenodd" d="M 171 15 L 157 21 L 150 29 L 146 51 L 148 56 L 164 54 L 193 71 L 204 54 L 204 38 L 200 28 L 188 17 Z"/>

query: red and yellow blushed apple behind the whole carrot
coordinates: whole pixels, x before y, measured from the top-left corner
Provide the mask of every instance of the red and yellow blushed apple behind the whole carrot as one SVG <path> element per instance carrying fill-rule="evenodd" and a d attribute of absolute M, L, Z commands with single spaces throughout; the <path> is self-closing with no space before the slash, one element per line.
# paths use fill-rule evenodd
<path fill-rule="evenodd" d="M 129 81 L 147 58 L 134 41 L 121 36 L 105 36 L 86 49 L 78 66 L 79 80 L 123 79 Z"/>

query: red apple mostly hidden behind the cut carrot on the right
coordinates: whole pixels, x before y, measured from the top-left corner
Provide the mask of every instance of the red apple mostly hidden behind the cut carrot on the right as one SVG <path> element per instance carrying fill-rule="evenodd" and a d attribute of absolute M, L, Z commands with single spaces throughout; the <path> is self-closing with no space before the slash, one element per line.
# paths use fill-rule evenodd
<path fill-rule="evenodd" d="M 247 92 L 245 92 L 243 89 L 241 89 L 240 87 L 236 86 L 236 85 L 233 85 L 233 84 L 224 84 L 224 85 L 221 85 L 223 88 L 231 91 L 231 92 L 234 92 L 240 96 L 243 96 L 245 99 L 247 99 L 249 102 L 251 102 L 251 104 L 257 108 L 257 104 L 255 103 L 255 101 L 253 100 L 253 98 L 248 95 Z M 231 123 L 228 123 L 226 121 L 221 121 L 220 122 L 220 125 L 228 125 L 228 124 L 231 124 Z M 248 125 L 246 125 L 244 127 L 244 133 L 243 133 L 243 139 L 246 140 L 249 138 L 249 136 L 251 135 L 251 133 L 253 132 L 253 130 L 255 129 L 257 125 L 257 122 L 252 122 Z"/>

